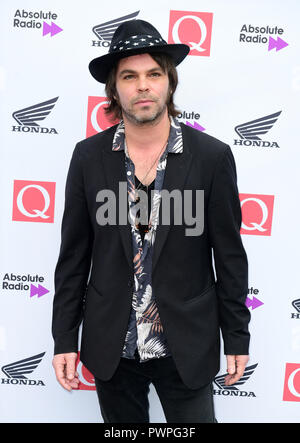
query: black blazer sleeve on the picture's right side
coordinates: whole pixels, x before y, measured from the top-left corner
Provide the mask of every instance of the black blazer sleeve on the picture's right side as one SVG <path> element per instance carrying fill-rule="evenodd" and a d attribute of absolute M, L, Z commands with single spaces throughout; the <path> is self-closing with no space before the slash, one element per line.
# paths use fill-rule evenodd
<path fill-rule="evenodd" d="M 247 355 L 250 312 L 248 260 L 240 235 L 241 205 L 237 174 L 229 146 L 219 159 L 208 204 L 208 229 L 213 248 L 220 327 L 226 355 Z"/>

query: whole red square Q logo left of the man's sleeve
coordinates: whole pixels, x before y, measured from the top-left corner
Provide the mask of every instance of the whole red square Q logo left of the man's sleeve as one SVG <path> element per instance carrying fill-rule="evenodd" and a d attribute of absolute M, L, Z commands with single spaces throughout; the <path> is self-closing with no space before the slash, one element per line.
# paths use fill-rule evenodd
<path fill-rule="evenodd" d="M 13 221 L 53 223 L 55 182 L 14 180 Z"/>

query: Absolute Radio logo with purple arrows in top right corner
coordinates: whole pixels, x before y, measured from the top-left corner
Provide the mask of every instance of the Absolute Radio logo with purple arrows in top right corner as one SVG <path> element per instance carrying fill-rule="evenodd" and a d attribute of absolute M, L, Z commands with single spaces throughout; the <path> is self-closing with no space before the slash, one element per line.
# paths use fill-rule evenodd
<path fill-rule="evenodd" d="M 240 30 L 239 41 L 246 44 L 255 44 L 268 47 L 268 51 L 280 49 L 288 46 L 288 43 L 284 41 L 279 35 L 283 35 L 284 30 L 279 26 L 253 26 L 244 24 Z"/>

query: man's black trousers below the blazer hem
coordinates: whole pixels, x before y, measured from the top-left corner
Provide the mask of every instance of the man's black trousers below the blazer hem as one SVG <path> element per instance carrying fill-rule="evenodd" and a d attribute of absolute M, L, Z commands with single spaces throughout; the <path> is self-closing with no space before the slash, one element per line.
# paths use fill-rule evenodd
<path fill-rule="evenodd" d="M 149 423 L 150 383 L 167 423 L 216 423 L 212 384 L 189 389 L 172 357 L 143 363 L 121 358 L 110 380 L 95 378 L 95 383 L 104 423 Z"/>

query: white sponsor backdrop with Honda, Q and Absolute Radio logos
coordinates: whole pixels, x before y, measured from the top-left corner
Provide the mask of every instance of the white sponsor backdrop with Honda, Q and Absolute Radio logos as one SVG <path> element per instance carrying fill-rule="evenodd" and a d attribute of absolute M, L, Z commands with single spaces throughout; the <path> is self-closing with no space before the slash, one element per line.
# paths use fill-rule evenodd
<path fill-rule="evenodd" d="M 237 165 L 251 358 L 229 388 L 222 351 L 217 419 L 299 422 L 299 1 L 11 0 L 0 12 L 0 421 L 101 421 L 79 358 L 79 390 L 52 369 L 53 274 L 75 143 L 111 125 L 88 63 L 108 51 L 108 29 L 138 18 L 190 46 L 179 119 L 228 143 Z M 150 416 L 165 422 L 154 389 Z"/>

